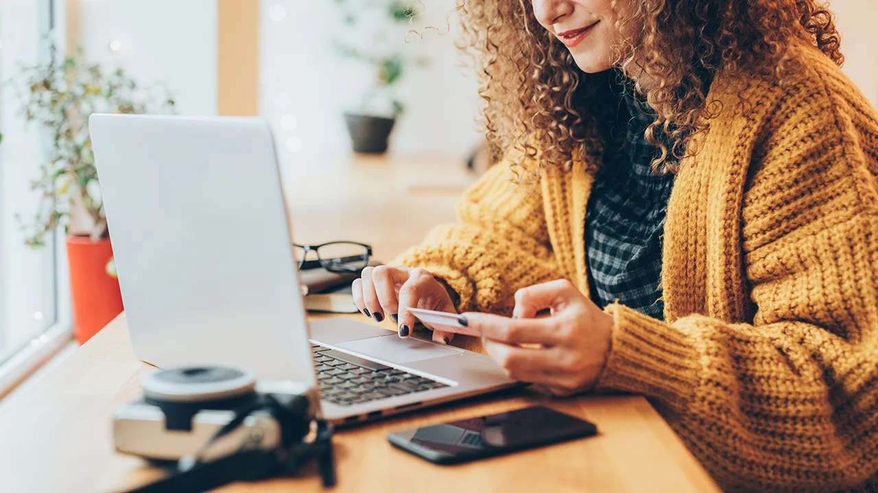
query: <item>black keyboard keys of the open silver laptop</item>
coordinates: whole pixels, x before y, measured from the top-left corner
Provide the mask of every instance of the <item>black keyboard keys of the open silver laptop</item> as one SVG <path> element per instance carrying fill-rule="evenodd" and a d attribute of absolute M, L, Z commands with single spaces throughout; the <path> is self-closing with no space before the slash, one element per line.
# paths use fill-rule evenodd
<path fill-rule="evenodd" d="M 448 387 L 443 382 L 316 344 L 311 345 L 311 354 L 320 382 L 320 397 L 333 404 L 362 404 Z"/>

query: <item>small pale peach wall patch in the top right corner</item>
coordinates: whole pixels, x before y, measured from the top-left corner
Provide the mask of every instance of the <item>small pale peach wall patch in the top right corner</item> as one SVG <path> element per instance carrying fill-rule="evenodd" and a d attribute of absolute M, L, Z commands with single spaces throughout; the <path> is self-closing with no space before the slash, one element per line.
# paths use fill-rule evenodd
<path fill-rule="evenodd" d="M 843 67 L 847 76 L 860 86 L 863 94 L 878 106 L 878 2 L 874 0 L 832 0 L 838 32 L 841 33 Z"/>

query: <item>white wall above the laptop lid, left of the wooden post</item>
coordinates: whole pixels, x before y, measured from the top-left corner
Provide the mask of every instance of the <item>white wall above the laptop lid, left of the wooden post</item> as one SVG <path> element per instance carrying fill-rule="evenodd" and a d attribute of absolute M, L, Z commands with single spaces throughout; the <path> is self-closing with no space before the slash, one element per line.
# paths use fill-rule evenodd
<path fill-rule="evenodd" d="M 87 59 L 166 83 L 182 114 L 216 114 L 216 0 L 80 0 L 78 22 Z"/>

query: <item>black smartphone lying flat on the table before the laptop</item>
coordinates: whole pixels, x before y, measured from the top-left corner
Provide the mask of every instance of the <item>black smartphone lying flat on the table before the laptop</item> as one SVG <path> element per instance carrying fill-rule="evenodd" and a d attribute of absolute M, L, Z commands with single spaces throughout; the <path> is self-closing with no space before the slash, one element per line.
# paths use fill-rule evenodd
<path fill-rule="evenodd" d="M 393 432 L 387 439 L 430 462 L 457 464 L 594 434 L 597 427 L 584 419 L 534 406 Z"/>

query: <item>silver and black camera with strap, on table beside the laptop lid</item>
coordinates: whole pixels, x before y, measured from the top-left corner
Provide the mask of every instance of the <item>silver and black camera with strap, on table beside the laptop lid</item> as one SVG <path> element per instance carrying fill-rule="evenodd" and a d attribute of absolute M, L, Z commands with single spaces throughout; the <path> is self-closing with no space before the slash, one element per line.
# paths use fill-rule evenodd
<path fill-rule="evenodd" d="M 212 461 L 241 450 L 290 447 L 309 432 L 316 391 L 299 382 L 256 382 L 244 368 L 156 370 L 143 397 L 113 414 L 116 450 L 150 461 Z"/>

